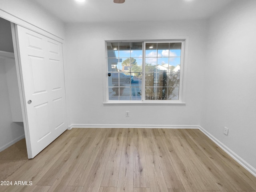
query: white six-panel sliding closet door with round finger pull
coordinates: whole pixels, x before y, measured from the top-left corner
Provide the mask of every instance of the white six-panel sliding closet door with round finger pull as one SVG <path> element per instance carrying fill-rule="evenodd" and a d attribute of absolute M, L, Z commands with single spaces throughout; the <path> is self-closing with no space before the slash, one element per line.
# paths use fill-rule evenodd
<path fill-rule="evenodd" d="M 62 44 L 16 26 L 28 158 L 67 128 Z"/>

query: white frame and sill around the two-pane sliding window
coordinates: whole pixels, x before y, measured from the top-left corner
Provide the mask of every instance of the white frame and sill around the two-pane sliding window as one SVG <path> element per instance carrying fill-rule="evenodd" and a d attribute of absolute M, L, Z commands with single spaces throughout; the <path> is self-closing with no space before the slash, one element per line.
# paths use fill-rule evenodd
<path fill-rule="evenodd" d="M 187 38 L 168 39 L 168 40 L 105 40 L 105 74 L 106 74 L 106 98 L 104 104 L 186 104 L 184 102 L 184 61 L 185 50 L 187 50 Z M 109 100 L 108 94 L 108 62 L 107 62 L 107 43 L 108 42 L 142 42 L 142 99 L 141 100 Z M 181 43 L 181 56 L 180 56 L 180 83 L 179 83 L 179 97 L 178 100 L 145 100 L 145 60 L 146 60 L 146 43 Z"/>

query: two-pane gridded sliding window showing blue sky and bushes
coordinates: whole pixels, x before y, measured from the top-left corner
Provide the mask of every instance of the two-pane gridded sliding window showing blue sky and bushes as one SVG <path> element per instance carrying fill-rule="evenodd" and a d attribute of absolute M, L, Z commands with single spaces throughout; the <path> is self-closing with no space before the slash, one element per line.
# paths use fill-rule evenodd
<path fill-rule="evenodd" d="M 106 42 L 108 102 L 181 102 L 184 41 Z"/>

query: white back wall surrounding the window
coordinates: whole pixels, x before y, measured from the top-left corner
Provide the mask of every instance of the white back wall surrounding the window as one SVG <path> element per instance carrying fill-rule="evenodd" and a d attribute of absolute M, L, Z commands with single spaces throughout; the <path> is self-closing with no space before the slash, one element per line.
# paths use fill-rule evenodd
<path fill-rule="evenodd" d="M 198 125 L 202 100 L 206 22 L 127 22 L 67 24 L 64 65 L 69 124 Z M 185 58 L 185 106 L 104 105 L 104 39 L 189 38 Z M 125 117 L 130 111 L 130 117 Z"/>

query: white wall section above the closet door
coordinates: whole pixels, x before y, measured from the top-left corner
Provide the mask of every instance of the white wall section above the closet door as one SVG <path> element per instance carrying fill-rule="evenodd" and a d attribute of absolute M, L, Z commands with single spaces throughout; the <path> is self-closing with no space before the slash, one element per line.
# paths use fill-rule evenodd
<path fill-rule="evenodd" d="M 33 0 L 0 0 L 0 4 L 0 17 L 26 27 L 36 26 L 42 32 L 64 39 L 63 22 Z"/>

